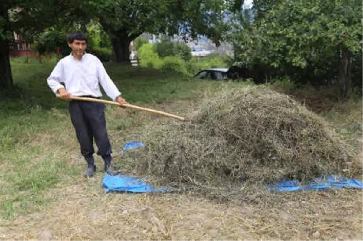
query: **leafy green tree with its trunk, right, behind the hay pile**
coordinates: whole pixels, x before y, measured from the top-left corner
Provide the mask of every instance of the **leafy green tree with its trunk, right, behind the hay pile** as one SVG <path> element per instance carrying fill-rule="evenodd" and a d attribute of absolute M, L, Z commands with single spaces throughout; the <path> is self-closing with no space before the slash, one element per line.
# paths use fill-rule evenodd
<path fill-rule="evenodd" d="M 330 61 L 338 69 L 342 95 L 348 97 L 353 56 L 362 54 L 363 2 L 281 0 L 269 6 L 241 55 L 253 55 L 276 68 L 306 69 Z"/>

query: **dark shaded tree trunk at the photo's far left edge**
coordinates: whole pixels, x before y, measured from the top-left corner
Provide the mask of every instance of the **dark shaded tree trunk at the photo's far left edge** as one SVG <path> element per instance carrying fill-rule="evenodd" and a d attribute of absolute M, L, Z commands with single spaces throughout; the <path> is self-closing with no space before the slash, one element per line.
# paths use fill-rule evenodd
<path fill-rule="evenodd" d="M 0 88 L 13 86 L 13 76 L 10 67 L 9 42 L 0 37 Z"/>

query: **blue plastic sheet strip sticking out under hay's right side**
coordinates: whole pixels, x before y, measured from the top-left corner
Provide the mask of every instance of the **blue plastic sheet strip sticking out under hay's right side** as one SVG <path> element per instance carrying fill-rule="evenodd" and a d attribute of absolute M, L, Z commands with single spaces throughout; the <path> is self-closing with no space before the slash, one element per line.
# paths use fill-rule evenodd
<path fill-rule="evenodd" d="M 347 179 L 335 175 L 322 176 L 306 185 L 300 185 L 296 180 L 282 180 L 278 184 L 269 185 L 271 190 L 279 192 L 327 190 L 330 188 L 359 188 L 363 189 L 363 183 L 357 179 Z"/>

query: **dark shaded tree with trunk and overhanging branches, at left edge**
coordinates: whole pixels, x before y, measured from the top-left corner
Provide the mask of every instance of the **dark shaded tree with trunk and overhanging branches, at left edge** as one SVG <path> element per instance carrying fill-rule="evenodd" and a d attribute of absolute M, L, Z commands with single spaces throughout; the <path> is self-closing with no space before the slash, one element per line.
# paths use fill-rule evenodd
<path fill-rule="evenodd" d="M 80 1 L 80 0 L 79 0 Z M 12 33 L 36 37 L 49 26 L 79 21 L 78 0 L 2 0 L 0 4 L 0 88 L 13 85 L 9 59 Z M 64 20 L 61 20 L 61 17 Z"/>

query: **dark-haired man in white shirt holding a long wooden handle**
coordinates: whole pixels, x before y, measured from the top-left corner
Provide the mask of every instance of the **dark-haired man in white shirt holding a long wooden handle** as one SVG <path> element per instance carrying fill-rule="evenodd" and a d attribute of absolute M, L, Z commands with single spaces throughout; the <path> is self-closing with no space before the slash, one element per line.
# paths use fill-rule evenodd
<path fill-rule="evenodd" d="M 98 147 L 97 154 L 105 162 L 105 171 L 111 174 L 113 171 L 112 150 L 106 130 L 104 104 L 70 98 L 71 96 L 102 97 L 99 89 L 101 84 L 111 99 L 121 105 L 127 102 L 110 79 L 102 62 L 94 55 L 85 52 L 87 47 L 85 34 L 80 32 L 69 34 L 68 45 L 72 52 L 57 63 L 47 83 L 54 94 L 59 94 L 63 100 L 70 100 L 70 117 L 76 130 L 81 154 L 88 164 L 85 176 L 93 176 L 96 171 L 93 137 Z"/>

